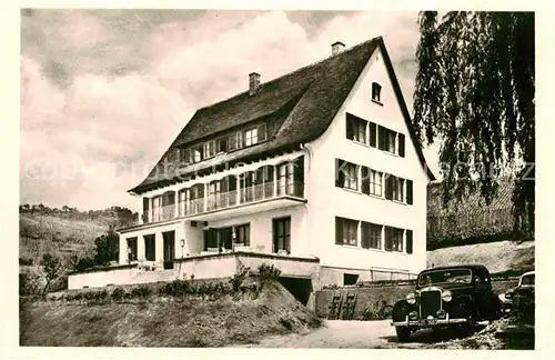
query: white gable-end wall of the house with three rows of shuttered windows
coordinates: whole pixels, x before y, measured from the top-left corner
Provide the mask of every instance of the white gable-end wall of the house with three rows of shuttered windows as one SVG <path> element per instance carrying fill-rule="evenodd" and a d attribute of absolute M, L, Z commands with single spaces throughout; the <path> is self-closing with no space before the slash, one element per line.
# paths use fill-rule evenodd
<path fill-rule="evenodd" d="M 372 82 L 382 86 L 383 106 L 371 101 Z M 345 118 L 354 116 L 405 134 L 405 158 L 355 143 L 345 137 Z M 373 54 L 334 121 L 322 137 L 307 144 L 313 157 L 306 177 L 307 233 L 312 252 L 322 266 L 369 269 L 384 267 L 418 272 L 426 264 L 427 176 L 412 144 L 382 54 Z M 335 187 L 335 159 L 413 180 L 412 206 L 355 193 Z M 413 253 L 385 252 L 335 244 L 335 217 L 413 230 Z M 403 247 L 404 249 L 404 247 Z M 346 271 L 347 272 L 347 271 Z"/>

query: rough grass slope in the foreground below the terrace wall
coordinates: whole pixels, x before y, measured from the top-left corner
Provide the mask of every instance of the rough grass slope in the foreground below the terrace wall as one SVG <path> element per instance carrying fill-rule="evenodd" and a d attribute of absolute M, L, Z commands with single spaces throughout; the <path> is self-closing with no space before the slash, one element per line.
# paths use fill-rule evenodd
<path fill-rule="evenodd" d="M 254 300 L 38 304 L 20 312 L 20 344 L 48 347 L 223 347 L 303 332 L 320 319 L 278 282 Z"/>

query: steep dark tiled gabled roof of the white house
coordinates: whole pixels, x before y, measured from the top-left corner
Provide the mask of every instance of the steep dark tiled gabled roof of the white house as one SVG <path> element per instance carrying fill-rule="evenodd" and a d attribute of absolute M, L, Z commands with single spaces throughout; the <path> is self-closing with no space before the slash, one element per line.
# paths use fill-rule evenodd
<path fill-rule="evenodd" d="M 260 84 L 255 94 L 242 92 L 231 99 L 199 109 L 172 142 L 157 166 L 131 192 L 142 192 L 172 182 L 178 177 L 200 169 L 236 161 L 249 156 L 274 151 L 319 138 L 331 124 L 335 114 L 354 87 L 374 50 L 380 47 L 397 97 L 398 104 L 416 147 L 422 166 L 435 179 L 422 153 L 418 139 L 404 102 L 393 64 L 381 37 L 371 39 L 325 60 L 301 68 L 278 79 Z M 261 118 L 272 118 L 278 126 L 269 141 L 255 147 L 179 167 L 176 149 L 218 136 Z"/>

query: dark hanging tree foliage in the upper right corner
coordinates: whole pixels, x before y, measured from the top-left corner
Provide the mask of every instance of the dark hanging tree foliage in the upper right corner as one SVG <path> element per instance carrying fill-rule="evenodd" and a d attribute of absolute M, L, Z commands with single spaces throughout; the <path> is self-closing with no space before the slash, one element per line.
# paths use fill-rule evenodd
<path fill-rule="evenodd" d="M 490 203 L 517 169 L 515 230 L 533 233 L 534 13 L 423 11 L 418 24 L 413 124 L 440 141 L 444 202 L 480 191 Z"/>

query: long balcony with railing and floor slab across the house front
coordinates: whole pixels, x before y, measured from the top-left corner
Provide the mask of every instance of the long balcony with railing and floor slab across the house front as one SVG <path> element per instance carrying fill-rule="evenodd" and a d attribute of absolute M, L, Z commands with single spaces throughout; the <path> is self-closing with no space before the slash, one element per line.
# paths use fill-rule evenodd
<path fill-rule="evenodd" d="M 226 192 L 209 193 L 208 197 L 180 201 L 144 211 L 143 223 L 160 222 L 179 218 L 191 220 L 214 220 L 222 217 L 222 210 L 235 209 L 229 216 L 266 211 L 276 208 L 304 202 L 304 183 L 294 182 L 265 182 L 252 187 L 240 188 Z M 246 209 L 248 204 L 259 204 Z"/>

